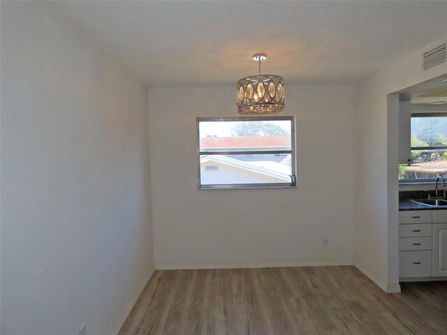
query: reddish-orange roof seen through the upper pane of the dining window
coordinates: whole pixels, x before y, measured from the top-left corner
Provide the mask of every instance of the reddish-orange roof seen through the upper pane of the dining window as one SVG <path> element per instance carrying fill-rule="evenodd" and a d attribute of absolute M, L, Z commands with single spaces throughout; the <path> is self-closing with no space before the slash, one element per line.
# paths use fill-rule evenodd
<path fill-rule="evenodd" d="M 200 137 L 200 149 L 291 147 L 291 136 Z"/>

